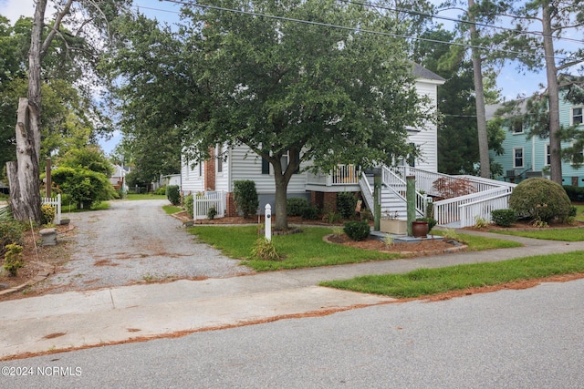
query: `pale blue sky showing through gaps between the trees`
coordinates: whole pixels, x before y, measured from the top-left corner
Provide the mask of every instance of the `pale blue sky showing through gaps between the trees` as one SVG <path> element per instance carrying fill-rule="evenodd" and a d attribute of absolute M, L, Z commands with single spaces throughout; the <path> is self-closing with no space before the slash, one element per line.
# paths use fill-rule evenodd
<path fill-rule="evenodd" d="M 432 0 L 433 3 L 442 3 L 442 0 Z M 50 3 L 50 1 L 49 1 Z M 159 0 L 135 0 L 135 5 L 138 5 L 141 13 L 149 17 L 156 17 L 159 21 L 177 21 L 179 7 L 176 4 L 169 2 L 161 2 Z M 47 15 L 51 10 L 47 9 Z M 8 17 L 11 21 L 16 21 L 20 15 L 32 16 L 34 14 L 34 0 L 0 0 L 0 15 Z M 454 15 L 440 14 L 454 17 Z M 444 22 L 448 26 L 447 22 Z M 580 36 L 574 36 L 577 39 L 582 39 Z M 577 44 L 570 44 L 576 46 Z M 580 45 L 584 46 L 584 45 Z M 517 96 L 530 96 L 537 90 L 540 90 L 540 85 L 546 84 L 545 73 L 522 73 L 516 69 L 516 65 L 508 64 L 504 67 L 497 78 L 497 87 L 501 89 L 502 96 L 507 100 L 514 99 Z M 120 134 L 116 133 L 112 139 L 100 141 L 101 147 L 109 153 L 119 142 Z"/>

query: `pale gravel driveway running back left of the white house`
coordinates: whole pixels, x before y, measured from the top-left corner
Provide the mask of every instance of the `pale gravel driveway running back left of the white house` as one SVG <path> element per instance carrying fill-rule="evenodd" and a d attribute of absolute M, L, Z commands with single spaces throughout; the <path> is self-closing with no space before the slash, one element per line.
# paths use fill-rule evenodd
<path fill-rule="evenodd" d="M 109 210 L 72 213 L 71 259 L 37 290 L 96 289 L 253 272 L 203 243 L 167 215 L 167 200 L 111 201 Z M 69 232 L 70 234 L 70 232 Z"/>

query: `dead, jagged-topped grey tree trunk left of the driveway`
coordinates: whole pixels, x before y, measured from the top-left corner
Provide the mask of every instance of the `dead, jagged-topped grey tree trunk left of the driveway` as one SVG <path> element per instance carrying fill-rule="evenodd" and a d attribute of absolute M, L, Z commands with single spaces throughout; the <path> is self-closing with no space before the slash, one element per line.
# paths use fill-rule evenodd
<path fill-rule="evenodd" d="M 28 99 L 20 98 L 16 120 L 16 162 L 6 164 L 10 206 L 16 220 L 26 221 L 31 218 L 40 223 L 40 179 L 36 135 L 33 131 L 37 112 L 35 107 L 28 105 Z"/>

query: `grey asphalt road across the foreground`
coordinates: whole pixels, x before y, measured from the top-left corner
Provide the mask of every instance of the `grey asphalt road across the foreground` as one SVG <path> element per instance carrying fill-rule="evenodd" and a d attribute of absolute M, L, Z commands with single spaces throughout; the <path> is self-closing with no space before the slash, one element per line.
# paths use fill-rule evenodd
<path fill-rule="evenodd" d="M 0 363 L 0 387 L 581 388 L 583 295 L 546 283 L 50 354 Z"/>

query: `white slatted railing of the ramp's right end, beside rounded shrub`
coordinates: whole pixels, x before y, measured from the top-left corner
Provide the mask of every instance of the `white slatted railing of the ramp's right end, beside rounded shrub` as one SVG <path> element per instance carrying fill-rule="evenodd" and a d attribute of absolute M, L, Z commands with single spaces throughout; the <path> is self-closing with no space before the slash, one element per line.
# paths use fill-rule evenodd
<path fill-rule="evenodd" d="M 499 187 L 499 188 L 495 188 L 495 189 L 489 189 L 489 190 L 485 190 L 482 191 L 480 193 L 472 193 L 469 195 L 465 195 L 465 196 L 460 196 L 460 197 L 455 197 L 453 199 L 446 199 L 446 200 L 440 200 L 440 201 L 436 201 L 433 203 L 433 213 L 434 213 L 434 219 L 438 221 L 438 224 L 440 225 L 445 225 L 445 224 L 451 224 L 454 222 L 461 222 L 461 226 L 460 227 L 469 227 L 474 225 L 474 216 L 471 214 L 467 214 L 466 216 L 464 216 L 464 222 L 465 223 L 469 223 L 472 221 L 472 224 L 466 224 L 466 225 L 462 225 L 462 218 L 463 218 L 463 210 L 464 212 L 466 212 L 466 207 L 465 205 L 470 205 L 470 204 L 474 204 L 474 203 L 478 203 L 478 202 L 482 202 L 484 207 L 491 207 L 491 206 L 487 206 L 487 202 L 489 200 L 493 200 L 494 204 L 496 204 L 496 201 L 498 201 L 497 199 L 499 199 L 499 197 L 501 196 L 508 196 L 511 194 L 511 191 L 513 190 L 512 187 Z M 496 209 L 501 209 L 502 207 L 497 206 L 497 205 L 493 205 L 493 207 L 498 207 Z M 504 207 L 506 208 L 506 207 Z M 495 208 L 493 208 L 495 210 Z M 472 209 L 474 210 L 474 209 Z M 481 216 L 483 218 L 485 218 L 484 216 Z M 487 218 L 485 218 L 487 219 Z M 490 220 L 490 216 L 488 217 L 488 220 Z"/>

